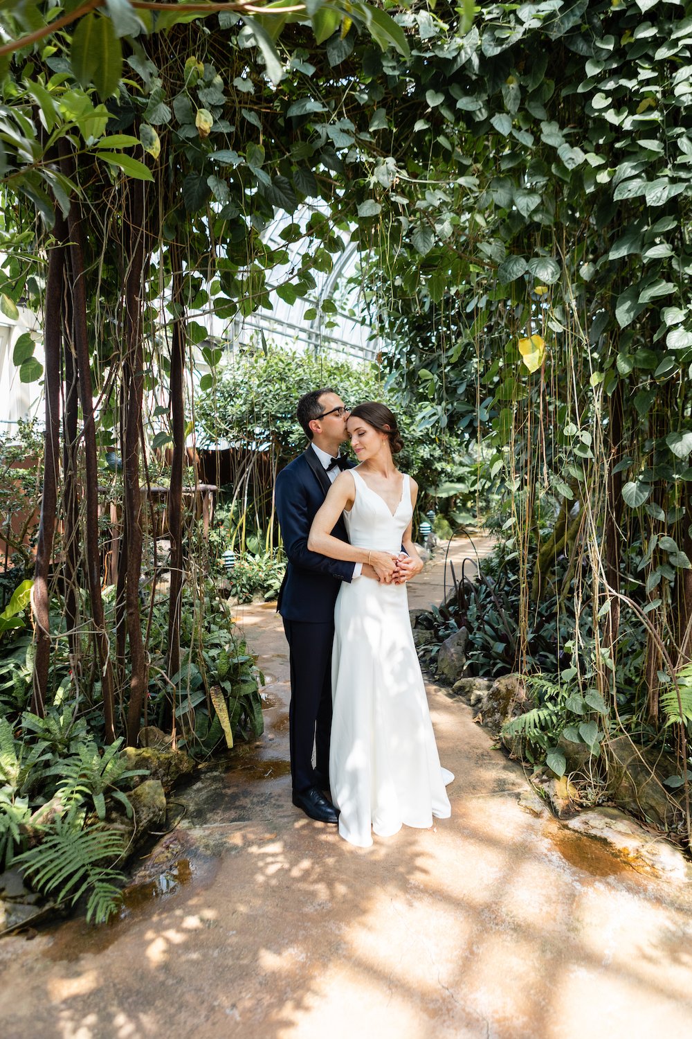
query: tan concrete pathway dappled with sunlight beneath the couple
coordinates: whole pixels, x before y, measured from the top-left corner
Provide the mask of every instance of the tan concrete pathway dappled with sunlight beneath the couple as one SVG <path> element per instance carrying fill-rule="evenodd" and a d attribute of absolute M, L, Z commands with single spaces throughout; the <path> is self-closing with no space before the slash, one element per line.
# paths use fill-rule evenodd
<path fill-rule="evenodd" d="M 438 558 L 412 606 L 440 576 Z M 352 848 L 290 804 L 280 619 L 261 605 L 239 623 L 267 672 L 265 736 L 182 793 L 118 921 L 0 942 L 3 1039 L 690 1035 L 686 883 L 523 810 L 522 769 L 435 686 L 452 818 Z"/>

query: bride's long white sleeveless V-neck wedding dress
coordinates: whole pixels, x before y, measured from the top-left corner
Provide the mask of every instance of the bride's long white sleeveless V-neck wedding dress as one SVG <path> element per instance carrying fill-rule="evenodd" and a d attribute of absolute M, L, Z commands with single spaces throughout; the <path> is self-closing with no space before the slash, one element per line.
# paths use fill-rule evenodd
<path fill-rule="evenodd" d="M 352 544 L 392 554 L 412 515 L 409 477 L 393 515 L 356 470 Z M 390 836 L 402 825 L 426 829 L 451 814 L 425 687 L 409 618 L 406 584 L 369 578 L 343 583 L 336 601 L 332 656 L 332 741 L 329 779 L 339 809 L 339 833 L 361 848 L 375 830 Z"/>

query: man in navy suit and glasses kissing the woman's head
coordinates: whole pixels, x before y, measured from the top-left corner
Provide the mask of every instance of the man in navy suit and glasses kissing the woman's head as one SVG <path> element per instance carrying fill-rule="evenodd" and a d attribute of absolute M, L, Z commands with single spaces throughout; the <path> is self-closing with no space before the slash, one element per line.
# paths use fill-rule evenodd
<path fill-rule="evenodd" d="M 373 578 L 378 575 L 366 564 L 345 563 L 308 551 L 307 538 L 317 509 L 338 473 L 352 469 L 355 462 L 339 455 L 339 446 L 347 438 L 349 408 L 335 390 L 305 394 L 298 402 L 297 418 L 310 443 L 276 480 L 276 511 L 288 558 L 277 610 L 283 618 L 290 658 L 293 802 L 310 819 L 336 823 L 336 809 L 323 793 L 329 787 L 334 604 L 341 581 L 353 581 L 362 572 Z M 332 534 L 349 540 L 342 516 Z"/>

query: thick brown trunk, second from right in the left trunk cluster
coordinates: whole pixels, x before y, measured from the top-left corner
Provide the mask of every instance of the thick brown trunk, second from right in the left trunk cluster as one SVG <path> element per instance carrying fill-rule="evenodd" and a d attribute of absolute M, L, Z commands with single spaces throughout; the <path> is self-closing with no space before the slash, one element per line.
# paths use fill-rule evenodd
<path fill-rule="evenodd" d="M 139 610 L 139 577 L 142 565 L 142 495 L 139 482 L 139 439 L 142 424 L 144 385 L 142 349 L 141 285 L 144 267 L 144 184 L 128 182 L 123 207 L 126 256 L 124 275 L 126 356 L 122 367 L 124 385 L 124 508 L 123 521 L 128 543 L 124 607 L 130 646 L 130 703 L 128 705 L 128 744 L 136 746 L 146 695 L 147 674 Z"/>

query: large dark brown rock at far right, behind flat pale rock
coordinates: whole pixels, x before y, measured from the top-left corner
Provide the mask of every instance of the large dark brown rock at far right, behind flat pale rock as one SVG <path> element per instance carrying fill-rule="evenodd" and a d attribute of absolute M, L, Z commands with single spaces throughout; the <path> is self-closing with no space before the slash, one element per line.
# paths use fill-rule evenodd
<path fill-rule="evenodd" d="M 683 816 L 681 803 L 663 785 L 680 771 L 672 754 L 639 746 L 627 736 L 611 740 L 608 756 L 608 794 L 626 808 L 660 829 L 673 829 Z"/>

